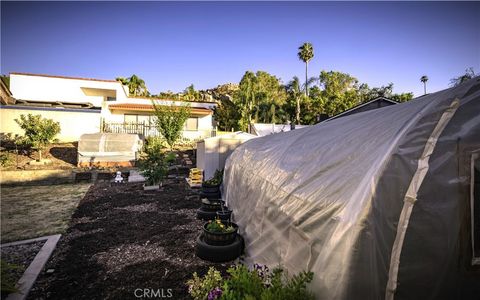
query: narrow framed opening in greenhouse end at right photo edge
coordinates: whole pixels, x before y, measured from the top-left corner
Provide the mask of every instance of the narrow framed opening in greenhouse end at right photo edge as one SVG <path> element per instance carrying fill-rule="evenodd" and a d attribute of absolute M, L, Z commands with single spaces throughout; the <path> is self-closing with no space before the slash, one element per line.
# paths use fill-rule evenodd
<path fill-rule="evenodd" d="M 470 207 L 472 217 L 472 265 L 480 265 L 480 153 L 472 155 Z"/>

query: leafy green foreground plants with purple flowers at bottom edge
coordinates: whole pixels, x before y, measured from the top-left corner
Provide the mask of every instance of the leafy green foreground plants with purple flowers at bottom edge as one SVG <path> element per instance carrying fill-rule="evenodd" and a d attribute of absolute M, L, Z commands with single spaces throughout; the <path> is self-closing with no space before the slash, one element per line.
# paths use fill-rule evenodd
<path fill-rule="evenodd" d="M 232 266 L 228 276 L 222 277 L 211 267 L 204 277 L 193 274 L 187 281 L 188 291 L 196 300 L 290 300 L 314 299 L 307 284 L 312 281 L 312 272 L 300 272 L 292 277 L 278 267 L 270 272 L 268 267 L 254 265 L 248 269 L 244 265 Z"/>

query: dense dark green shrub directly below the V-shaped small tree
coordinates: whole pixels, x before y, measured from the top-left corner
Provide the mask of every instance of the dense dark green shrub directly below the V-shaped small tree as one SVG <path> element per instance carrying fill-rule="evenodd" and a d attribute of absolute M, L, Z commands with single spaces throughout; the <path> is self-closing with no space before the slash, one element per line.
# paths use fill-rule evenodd
<path fill-rule="evenodd" d="M 147 179 L 148 185 L 161 183 L 168 171 L 168 160 L 163 152 L 161 140 L 151 139 L 147 141 L 144 152 L 138 161 L 138 167 Z"/>

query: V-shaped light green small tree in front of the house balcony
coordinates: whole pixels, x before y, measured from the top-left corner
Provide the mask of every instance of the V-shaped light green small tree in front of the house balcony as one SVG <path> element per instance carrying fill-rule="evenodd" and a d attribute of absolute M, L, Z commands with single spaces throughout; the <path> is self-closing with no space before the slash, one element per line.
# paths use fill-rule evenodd
<path fill-rule="evenodd" d="M 173 145 L 182 135 L 182 129 L 190 115 L 189 105 L 159 105 L 152 100 L 155 124 L 158 131 L 173 150 Z"/>

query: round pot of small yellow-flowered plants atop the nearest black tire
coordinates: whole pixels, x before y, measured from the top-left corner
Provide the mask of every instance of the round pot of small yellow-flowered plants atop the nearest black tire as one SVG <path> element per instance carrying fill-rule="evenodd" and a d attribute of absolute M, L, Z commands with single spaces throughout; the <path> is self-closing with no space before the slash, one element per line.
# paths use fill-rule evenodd
<path fill-rule="evenodd" d="M 209 245 L 229 245 L 235 241 L 237 231 L 237 224 L 222 222 L 218 218 L 203 225 L 203 237 Z"/>

